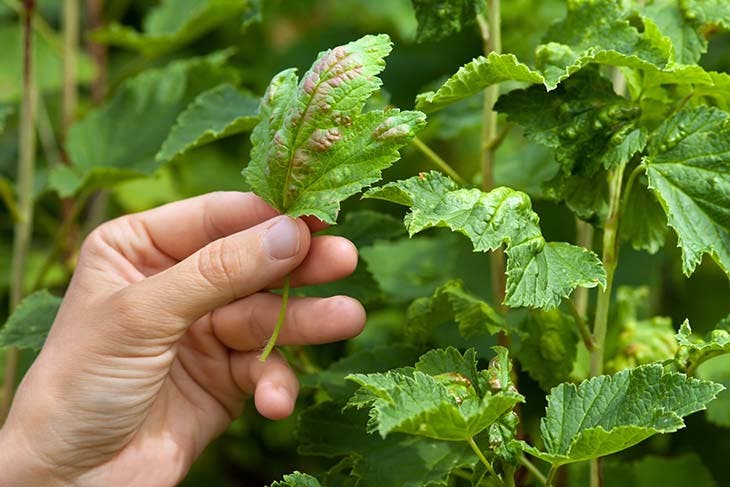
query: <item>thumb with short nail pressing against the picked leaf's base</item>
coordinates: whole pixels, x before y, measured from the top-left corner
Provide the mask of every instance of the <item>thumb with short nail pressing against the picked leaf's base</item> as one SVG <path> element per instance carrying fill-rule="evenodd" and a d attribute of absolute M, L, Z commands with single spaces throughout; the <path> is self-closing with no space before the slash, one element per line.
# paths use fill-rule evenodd
<path fill-rule="evenodd" d="M 178 264 L 120 291 L 146 303 L 145 336 L 174 336 L 206 313 L 253 294 L 293 271 L 307 255 L 310 232 L 300 219 L 272 218 L 215 240 Z M 149 316 L 157 332 L 149 329 Z M 170 322 L 172 329 L 167 323 Z M 159 326 L 158 326 L 159 324 Z"/>

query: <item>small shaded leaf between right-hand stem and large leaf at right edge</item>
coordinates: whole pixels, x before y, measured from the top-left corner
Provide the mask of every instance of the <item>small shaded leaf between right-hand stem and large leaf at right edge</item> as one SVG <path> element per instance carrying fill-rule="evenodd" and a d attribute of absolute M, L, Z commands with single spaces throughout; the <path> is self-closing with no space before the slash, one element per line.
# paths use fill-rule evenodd
<path fill-rule="evenodd" d="M 621 238 L 636 250 L 657 253 L 666 240 L 667 216 L 649 190 L 645 174 L 636 178 L 625 198 L 619 219 Z"/>

